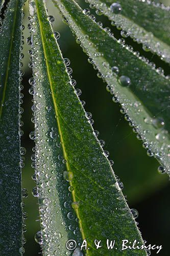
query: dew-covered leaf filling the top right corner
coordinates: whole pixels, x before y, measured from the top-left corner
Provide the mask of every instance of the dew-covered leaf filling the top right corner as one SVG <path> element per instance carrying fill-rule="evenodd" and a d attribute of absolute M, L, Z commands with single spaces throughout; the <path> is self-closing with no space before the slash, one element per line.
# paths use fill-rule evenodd
<path fill-rule="evenodd" d="M 120 0 L 120 6 L 117 7 L 112 5 L 112 0 L 88 2 L 95 6 L 96 13 L 103 13 L 113 26 L 123 29 L 123 37 L 132 37 L 138 44 L 143 44 L 143 50 L 151 51 L 170 62 L 169 7 L 140 0 L 130 0 L 128 3 Z M 118 7 L 122 10 L 119 13 L 116 12 Z"/>

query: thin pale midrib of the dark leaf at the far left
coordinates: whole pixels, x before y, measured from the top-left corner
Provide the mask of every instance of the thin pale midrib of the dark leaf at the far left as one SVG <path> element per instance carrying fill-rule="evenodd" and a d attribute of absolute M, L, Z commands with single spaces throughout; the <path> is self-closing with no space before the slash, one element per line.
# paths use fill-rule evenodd
<path fill-rule="evenodd" d="M 9 56 L 8 56 L 7 72 L 6 72 L 6 77 L 5 77 L 3 98 L 2 98 L 2 102 L 1 102 L 1 106 L 0 106 L 0 121 L 1 121 L 1 118 L 2 118 L 3 105 L 4 105 L 4 101 L 5 101 L 5 93 L 6 93 L 8 75 L 9 75 L 9 70 L 10 70 L 11 53 L 12 53 L 12 45 L 13 45 L 13 39 L 14 39 L 14 30 L 15 30 L 15 25 L 16 25 L 16 13 L 17 13 L 18 1 L 19 0 L 17 0 L 17 2 L 16 2 L 16 8 L 15 8 L 15 14 L 14 14 L 14 20 L 13 20 L 13 27 L 12 27 L 12 33 L 11 33 L 11 44 L 10 44 L 10 50 L 9 50 Z"/>

